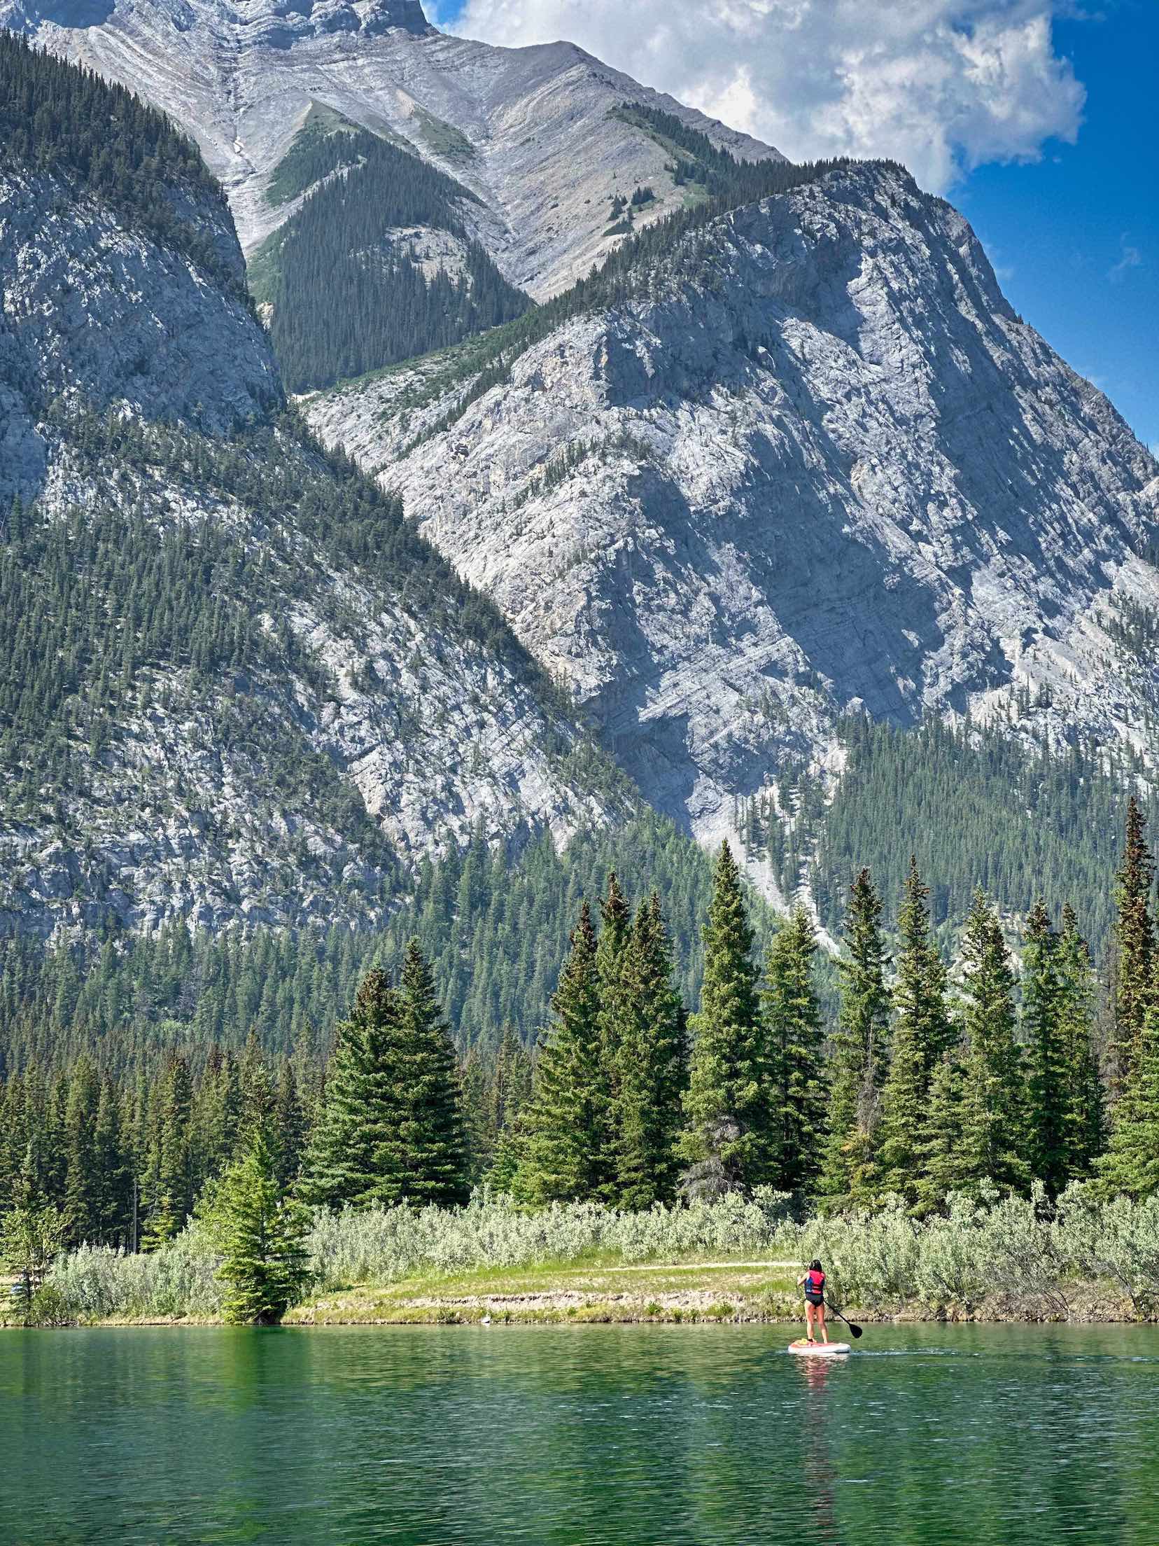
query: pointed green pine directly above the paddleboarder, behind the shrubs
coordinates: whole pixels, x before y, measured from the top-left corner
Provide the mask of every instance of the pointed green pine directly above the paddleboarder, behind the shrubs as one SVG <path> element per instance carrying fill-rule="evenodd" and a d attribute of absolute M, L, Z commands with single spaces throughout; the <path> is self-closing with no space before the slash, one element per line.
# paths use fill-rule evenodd
<path fill-rule="evenodd" d="M 796 908 L 768 948 L 762 993 L 771 1095 L 776 1186 L 796 1192 L 816 1181 L 825 1141 L 821 1006 L 813 985 L 813 923 Z"/>

